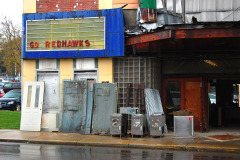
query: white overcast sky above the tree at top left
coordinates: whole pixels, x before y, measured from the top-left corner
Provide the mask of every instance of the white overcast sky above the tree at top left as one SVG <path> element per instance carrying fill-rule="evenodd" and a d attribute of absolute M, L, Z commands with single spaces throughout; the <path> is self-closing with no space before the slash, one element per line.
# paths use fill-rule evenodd
<path fill-rule="evenodd" d="M 12 19 L 14 25 L 22 26 L 23 0 L 0 0 L 0 20 L 4 16 Z"/>

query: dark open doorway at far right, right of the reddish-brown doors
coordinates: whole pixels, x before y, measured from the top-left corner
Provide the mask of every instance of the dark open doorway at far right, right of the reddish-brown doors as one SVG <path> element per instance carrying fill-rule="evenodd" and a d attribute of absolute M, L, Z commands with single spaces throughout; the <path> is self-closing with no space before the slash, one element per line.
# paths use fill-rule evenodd
<path fill-rule="evenodd" d="M 238 77 L 209 79 L 210 129 L 240 129 L 239 84 Z"/>

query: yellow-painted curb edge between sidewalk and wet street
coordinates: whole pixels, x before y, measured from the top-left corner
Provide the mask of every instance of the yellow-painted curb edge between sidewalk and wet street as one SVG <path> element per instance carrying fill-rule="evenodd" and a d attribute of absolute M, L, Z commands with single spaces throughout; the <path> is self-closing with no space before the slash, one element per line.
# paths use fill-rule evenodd
<path fill-rule="evenodd" d="M 199 147 L 187 145 L 143 145 L 143 144 L 116 144 L 99 142 L 70 142 L 70 141 L 40 141 L 40 140 L 20 140 L 20 139 L 0 139 L 0 142 L 32 143 L 32 144 L 52 144 L 52 145 L 76 145 L 94 147 L 117 147 L 117 148 L 136 148 L 136 149 L 157 149 L 157 150 L 177 150 L 177 151 L 198 151 L 198 152 L 228 152 L 240 153 L 240 148 L 222 147 Z"/>

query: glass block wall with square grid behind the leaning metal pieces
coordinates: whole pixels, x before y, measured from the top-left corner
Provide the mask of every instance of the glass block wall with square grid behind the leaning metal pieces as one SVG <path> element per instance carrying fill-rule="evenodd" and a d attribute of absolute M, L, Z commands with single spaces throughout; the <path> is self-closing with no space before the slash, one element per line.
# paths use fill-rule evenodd
<path fill-rule="evenodd" d="M 145 88 L 160 89 L 158 87 L 160 86 L 160 79 L 156 79 L 160 75 L 157 60 L 141 57 L 114 59 L 114 83 L 117 83 L 118 86 L 118 111 L 120 107 L 134 107 L 136 83 L 139 84 L 136 106 L 138 108 L 141 106 L 141 84 L 144 84 Z M 131 84 L 129 106 L 126 106 L 127 85 L 129 83 Z"/>

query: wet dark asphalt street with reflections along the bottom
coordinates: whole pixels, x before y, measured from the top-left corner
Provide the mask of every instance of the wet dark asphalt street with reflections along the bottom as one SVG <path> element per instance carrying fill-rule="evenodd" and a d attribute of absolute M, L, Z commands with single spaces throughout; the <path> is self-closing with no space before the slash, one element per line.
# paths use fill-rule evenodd
<path fill-rule="evenodd" d="M 0 160 L 239 160 L 239 153 L 184 152 L 0 142 Z"/>

